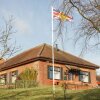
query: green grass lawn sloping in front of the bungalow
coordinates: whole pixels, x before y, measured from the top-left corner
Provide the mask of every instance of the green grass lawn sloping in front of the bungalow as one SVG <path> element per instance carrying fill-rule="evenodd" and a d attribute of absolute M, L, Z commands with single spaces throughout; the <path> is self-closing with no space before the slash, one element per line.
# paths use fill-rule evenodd
<path fill-rule="evenodd" d="M 63 90 L 56 87 L 55 100 L 64 100 Z M 53 100 L 52 87 L 0 89 L 0 100 Z M 67 90 L 66 100 L 100 100 L 100 89 Z"/>

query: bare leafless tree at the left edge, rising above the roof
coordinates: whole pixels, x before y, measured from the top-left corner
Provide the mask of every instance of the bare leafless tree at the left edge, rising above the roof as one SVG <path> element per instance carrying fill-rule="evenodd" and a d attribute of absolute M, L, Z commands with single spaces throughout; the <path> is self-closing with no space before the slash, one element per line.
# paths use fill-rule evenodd
<path fill-rule="evenodd" d="M 13 20 L 12 16 L 9 17 L 9 20 L 4 19 L 4 27 L 0 28 L 0 59 L 3 57 L 8 58 L 19 50 L 16 41 L 11 42 L 12 34 L 15 33 Z"/>

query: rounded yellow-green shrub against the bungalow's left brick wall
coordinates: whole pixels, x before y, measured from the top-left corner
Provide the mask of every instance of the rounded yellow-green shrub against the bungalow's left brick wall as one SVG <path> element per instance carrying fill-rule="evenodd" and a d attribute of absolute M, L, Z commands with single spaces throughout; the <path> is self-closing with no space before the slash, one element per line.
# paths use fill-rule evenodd
<path fill-rule="evenodd" d="M 29 88 L 29 87 L 34 87 L 38 85 L 37 82 L 37 71 L 33 68 L 29 69 L 26 68 L 22 73 L 19 74 L 15 87 L 16 88 Z"/>

